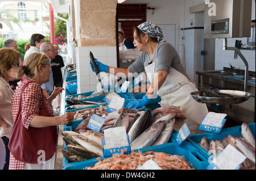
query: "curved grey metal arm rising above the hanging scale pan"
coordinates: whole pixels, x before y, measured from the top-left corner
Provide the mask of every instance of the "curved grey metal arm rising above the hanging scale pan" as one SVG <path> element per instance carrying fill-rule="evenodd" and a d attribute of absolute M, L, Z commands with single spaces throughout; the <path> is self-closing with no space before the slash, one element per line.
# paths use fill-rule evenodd
<path fill-rule="evenodd" d="M 247 88 L 248 88 L 248 74 L 249 74 L 249 65 L 248 62 L 246 60 L 246 58 L 243 56 L 243 54 L 241 53 L 240 49 L 238 49 L 237 47 L 228 47 L 228 40 L 225 38 L 223 39 L 223 50 L 235 50 L 238 55 L 241 57 L 243 63 L 245 63 L 245 87 L 244 90 L 245 92 L 247 92 Z"/>

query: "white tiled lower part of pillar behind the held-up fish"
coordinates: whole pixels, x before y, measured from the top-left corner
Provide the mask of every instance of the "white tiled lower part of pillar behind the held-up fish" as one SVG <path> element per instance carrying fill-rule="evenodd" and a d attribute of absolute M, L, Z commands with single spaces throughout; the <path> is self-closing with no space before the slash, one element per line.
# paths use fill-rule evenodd
<path fill-rule="evenodd" d="M 90 68 L 90 52 L 94 58 L 108 66 L 117 67 L 117 48 L 116 47 L 77 47 L 77 94 L 100 89 L 100 84 L 96 73 Z M 114 76 L 112 76 L 114 80 Z M 98 86 L 98 87 L 97 87 Z"/>

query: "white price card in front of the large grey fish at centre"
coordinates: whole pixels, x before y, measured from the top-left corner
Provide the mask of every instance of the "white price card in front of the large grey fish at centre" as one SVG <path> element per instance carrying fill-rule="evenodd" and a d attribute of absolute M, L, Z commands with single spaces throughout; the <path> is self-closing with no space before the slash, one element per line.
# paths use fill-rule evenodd
<path fill-rule="evenodd" d="M 104 149 L 112 149 L 112 148 L 119 148 L 123 146 L 129 146 L 125 127 L 105 129 L 104 137 L 105 137 Z"/>

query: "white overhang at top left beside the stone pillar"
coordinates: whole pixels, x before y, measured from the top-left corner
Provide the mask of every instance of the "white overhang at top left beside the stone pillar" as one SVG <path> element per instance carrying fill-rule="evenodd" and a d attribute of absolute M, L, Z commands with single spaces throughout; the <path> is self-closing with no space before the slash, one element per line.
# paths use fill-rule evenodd
<path fill-rule="evenodd" d="M 3 1 L 3 0 L 0 0 Z M 12 0 L 12 1 L 27 1 L 27 0 Z M 53 11 L 59 13 L 68 13 L 69 0 L 31 0 L 36 2 L 48 2 L 52 4 Z"/>

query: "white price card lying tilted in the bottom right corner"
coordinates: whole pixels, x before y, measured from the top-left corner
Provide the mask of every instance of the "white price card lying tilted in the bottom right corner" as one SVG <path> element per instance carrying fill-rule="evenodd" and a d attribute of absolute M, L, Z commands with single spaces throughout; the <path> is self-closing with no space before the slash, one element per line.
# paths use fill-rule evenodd
<path fill-rule="evenodd" d="M 222 153 L 218 155 L 215 165 L 221 170 L 234 170 L 245 161 L 245 159 L 245 155 L 229 144 Z"/>

